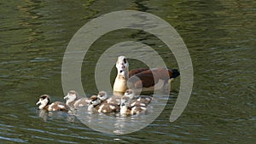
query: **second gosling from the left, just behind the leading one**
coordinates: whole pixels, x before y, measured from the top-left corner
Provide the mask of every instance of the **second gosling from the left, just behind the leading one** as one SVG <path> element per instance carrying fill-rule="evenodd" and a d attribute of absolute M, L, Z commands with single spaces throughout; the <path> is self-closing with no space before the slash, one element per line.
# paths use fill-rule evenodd
<path fill-rule="evenodd" d="M 79 99 L 79 95 L 75 90 L 70 90 L 64 99 L 66 100 L 67 106 L 74 108 L 86 107 L 90 103 L 90 100 L 86 97 Z"/>

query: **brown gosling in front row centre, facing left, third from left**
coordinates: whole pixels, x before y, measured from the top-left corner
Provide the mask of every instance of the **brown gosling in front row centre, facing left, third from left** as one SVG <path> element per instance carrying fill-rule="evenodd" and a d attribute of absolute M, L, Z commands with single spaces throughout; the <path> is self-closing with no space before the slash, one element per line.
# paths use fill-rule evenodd
<path fill-rule="evenodd" d="M 90 105 L 88 111 L 96 111 L 102 113 L 118 112 L 119 107 L 117 105 L 102 102 L 96 95 L 90 97 Z"/>

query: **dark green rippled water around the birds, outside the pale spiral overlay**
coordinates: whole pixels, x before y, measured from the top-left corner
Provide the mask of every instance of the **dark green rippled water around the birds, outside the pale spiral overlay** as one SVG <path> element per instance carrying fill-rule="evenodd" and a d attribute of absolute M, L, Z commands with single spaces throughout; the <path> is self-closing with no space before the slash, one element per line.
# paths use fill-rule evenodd
<path fill-rule="evenodd" d="M 255 5 L 254 1 L 235 0 L 1 2 L 0 142 L 254 143 Z M 73 114 L 38 111 L 35 103 L 39 95 L 49 94 L 52 101 L 63 101 L 61 62 L 73 34 L 89 20 L 123 9 L 156 14 L 183 37 L 195 81 L 182 116 L 169 122 L 179 78 L 173 82 L 160 116 L 131 134 L 104 134 L 91 130 Z M 154 36 L 134 30 L 110 32 L 85 55 L 82 80 L 86 94 L 97 93 L 94 70 L 100 55 L 126 40 L 148 44 L 158 50 L 167 66 L 177 68 L 172 52 Z M 131 66 L 144 65 L 131 60 Z M 113 68 L 112 82 L 114 75 Z M 92 117 L 96 121 L 101 115 Z M 122 124 L 129 126 L 119 118 L 116 126 Z"/>

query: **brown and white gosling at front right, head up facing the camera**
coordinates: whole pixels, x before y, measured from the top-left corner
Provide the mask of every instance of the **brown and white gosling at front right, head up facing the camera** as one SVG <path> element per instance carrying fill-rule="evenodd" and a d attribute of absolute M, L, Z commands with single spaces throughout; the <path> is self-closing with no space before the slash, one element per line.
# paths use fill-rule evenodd
<path fill-rule="evenodd" d="M 131 99 L 126 96 L 121 99 L 121 104 L 120 104 L 121 115 L 135 115 L 135 114 L 144 113 L 147 111 L 147 107 L 142 107 L 142 106 L 130 107 L 130 101 Z"/>

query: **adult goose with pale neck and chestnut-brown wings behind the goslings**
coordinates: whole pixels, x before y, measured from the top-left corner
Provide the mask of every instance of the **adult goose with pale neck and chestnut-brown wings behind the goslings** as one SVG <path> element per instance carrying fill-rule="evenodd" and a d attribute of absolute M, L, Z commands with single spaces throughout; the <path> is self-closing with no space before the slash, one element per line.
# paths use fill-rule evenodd
<path fill-rule="evenodd" d="M 128 88 L 138 91 L 165 89 L 180 74 L 177 69 L 167 68 L 141 68 L 129 72 L 128 60 L 123 55 L 118 57 L 115 66 L 118 73 L 113 84 L 113 92 L 119 93 L 125 93 Z"/>

